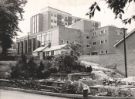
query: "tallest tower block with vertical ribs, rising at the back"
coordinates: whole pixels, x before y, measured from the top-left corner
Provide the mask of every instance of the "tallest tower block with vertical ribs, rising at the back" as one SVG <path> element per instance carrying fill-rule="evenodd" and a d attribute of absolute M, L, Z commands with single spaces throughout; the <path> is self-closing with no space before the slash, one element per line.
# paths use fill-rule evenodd
<path fill-rule="evenodd" d="M 47 31 L 57 26 L 69 26 L 80 19 L 72 16 L 70 13 L 47 7 L 42 9 L 39 14 L 31 17 L 30 33 Z"/>

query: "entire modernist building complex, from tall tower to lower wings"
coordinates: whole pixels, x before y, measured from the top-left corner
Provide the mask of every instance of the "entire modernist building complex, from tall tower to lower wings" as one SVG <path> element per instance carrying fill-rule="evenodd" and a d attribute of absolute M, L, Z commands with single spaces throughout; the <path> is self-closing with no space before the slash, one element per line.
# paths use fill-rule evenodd
<path fill-rule="evenodd" d="M 32 54 L 48 45 L 66 43 L 81 44 L 85 55 L 115 53 L 113 45 L 122 38 L 120 28 L 101 27 L 100 22 L 73 17 L 51 7 L 32 16 L 30 23 L 29 35 L 17 39 L 18 54 Z"/>

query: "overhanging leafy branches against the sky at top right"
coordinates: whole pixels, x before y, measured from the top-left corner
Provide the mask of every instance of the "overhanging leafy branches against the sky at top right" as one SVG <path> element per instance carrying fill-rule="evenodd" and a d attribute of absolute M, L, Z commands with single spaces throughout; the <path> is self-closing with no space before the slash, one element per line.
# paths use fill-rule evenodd
<path fill-rule="evenodd" d="M 115 18 L 120 18 L 123 23 L 131 23 L 132 20 L 135 21 L 135 15 L 132 15 L 129 18 L 123 19 L 123 14 L 125 14 L 125 7 L 127 5 L 130 5 L 131 3 L 135 3 L 135 0 L 104 0 L 108 7 L 113 11 L 115 14 Z M 101 11 L 100 6 L 97 2 L 94 2 L 90 8 L 89 12 L 86 13 L 86 15 L 89 16 L 89 18 L 94 16 L 95 11 Z"/>

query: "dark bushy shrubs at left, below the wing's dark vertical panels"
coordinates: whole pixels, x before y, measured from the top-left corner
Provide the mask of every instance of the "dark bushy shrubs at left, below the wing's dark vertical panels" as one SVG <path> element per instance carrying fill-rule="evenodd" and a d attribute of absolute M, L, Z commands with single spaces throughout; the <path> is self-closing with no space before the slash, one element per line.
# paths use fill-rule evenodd
<path fill-rule="evenodd" d="M 11 78 L 15 79 L 30 79 L 37 77 L 37 64 L 33 58 L 30 58 L 27 62 L 25 55 L 22 55 L 16 66 L 11 69 Z"/>

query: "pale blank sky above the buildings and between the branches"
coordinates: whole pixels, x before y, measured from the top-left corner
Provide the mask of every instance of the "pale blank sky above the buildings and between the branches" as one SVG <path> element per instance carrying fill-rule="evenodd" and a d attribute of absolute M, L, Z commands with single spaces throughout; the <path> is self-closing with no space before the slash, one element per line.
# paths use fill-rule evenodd
<path fill-rule="evenodd" d="M 22 33 L 18 33 L 18 36 L 27 35 L 30 31 L 30 17 L 39 13 L 41 9 L 50 6 L 68 13 L 73 16 L 89 19 L 85 14 L 89 11 L 90 5 L 97 1 L 101 7 L 101 11 L 96 11 L 92 20 L 101 22 L 101 26 L 114 25 L 119 28 L 125 27 L 128 32 L 135 28 L 135 21 L 130 25 L 124 25 L 120 19 L 115 19 L 114 13 L 108 8 L 104 0 L 27 0 L 27 4 L 24 7 L 25 13 L 24 20 L 19 22 L 19 27 Z M 124 17 L 130 17 L 135 14 L 135 5 L 130 4 L 125 8 L 126 14 Z"/>

